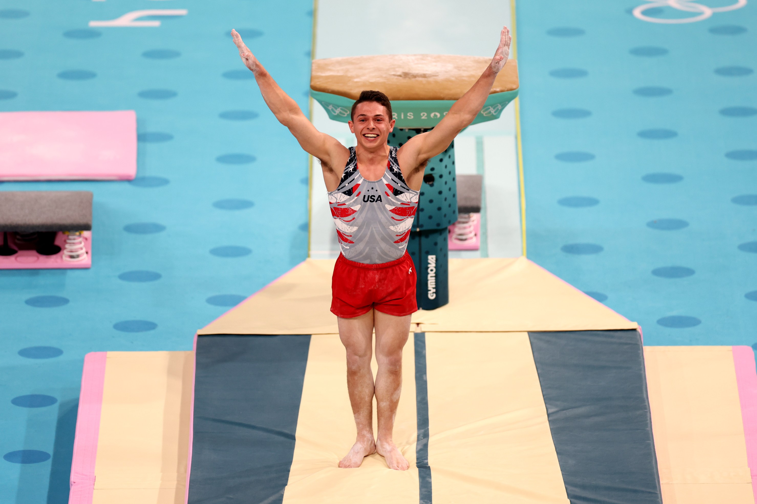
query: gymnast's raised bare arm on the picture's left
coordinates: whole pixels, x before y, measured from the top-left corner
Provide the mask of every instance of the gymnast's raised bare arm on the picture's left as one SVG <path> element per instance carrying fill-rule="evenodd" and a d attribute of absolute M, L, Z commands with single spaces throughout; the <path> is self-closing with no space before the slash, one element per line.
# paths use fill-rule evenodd
<path fill-rule="evenodd" d="M 313 123 L 302 113 L 298 104 L 276 84 L 271 74 L 254 57 L 252 51 L 248 49 L 245 42 L 242 42 L 241 36 L 235 29 L 232 29 L 232 37 L 239 50 L 241 60 L 255 74 L 255 82 L 260 87 L 260 94 L 263 94 L 263 100 L 266 101 L 266 105 L 276 116 L 276 119 L 279 119 L 282 125 L 289 128 L 291 134 L 294 135 L 294 138 L 297 138 L 300 146 L 307 153 L 321 160 L 322 164 L 325 165 L 325 172 L 326 166 L 344 168 L 344 164 L 350 156 L 347 147 L 344 147 L 338 140 L 326 135 L 326 133 L 321 133 L 313 126 Z M 338 175 L 341 177 L 341 172 Z"/>

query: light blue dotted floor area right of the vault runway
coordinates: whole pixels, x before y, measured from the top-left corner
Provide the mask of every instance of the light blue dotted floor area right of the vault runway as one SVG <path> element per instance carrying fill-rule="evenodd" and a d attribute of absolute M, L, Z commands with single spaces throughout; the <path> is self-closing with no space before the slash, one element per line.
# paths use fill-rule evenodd
<path fill-rule="evenodd" d="M 643 3 L 518 3 L 528 257 L 647 345 L 752 345 L 757 8 Z"/>

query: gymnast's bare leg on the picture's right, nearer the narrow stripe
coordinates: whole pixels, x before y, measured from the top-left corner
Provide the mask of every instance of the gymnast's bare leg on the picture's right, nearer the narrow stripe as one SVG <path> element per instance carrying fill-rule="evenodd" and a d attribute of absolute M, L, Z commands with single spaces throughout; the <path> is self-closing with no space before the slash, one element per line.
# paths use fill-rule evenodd
<path fill-rule="evenodd" d="M 376 363 L 378 363 L 375 381 L 376 417 L 378 418 L 376 451 L 384 456 L 389 468 L 406 471 L 409 464 L 394 445 L 392 431 L 402 391 L 402 349 L 410 335 L 410 315 L 395 317 L 378 310 L 373 313 L 376 331 Z"/>

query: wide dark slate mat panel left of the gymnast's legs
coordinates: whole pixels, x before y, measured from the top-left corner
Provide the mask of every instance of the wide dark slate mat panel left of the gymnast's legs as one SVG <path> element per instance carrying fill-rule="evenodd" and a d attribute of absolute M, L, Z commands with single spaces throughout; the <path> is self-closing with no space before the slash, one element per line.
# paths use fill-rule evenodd
<path fill-rule="evenodd" d="M 282 502 L 310 335 L 197 341 L 190 504 Z"/>

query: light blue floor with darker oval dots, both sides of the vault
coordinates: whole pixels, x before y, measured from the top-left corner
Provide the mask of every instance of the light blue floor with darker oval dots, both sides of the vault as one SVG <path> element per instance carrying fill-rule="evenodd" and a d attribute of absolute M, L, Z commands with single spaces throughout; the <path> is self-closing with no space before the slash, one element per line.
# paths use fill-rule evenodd
<path fill-rule="evenodd" d="M 632 17 L 640 2 L 518 5 L 528 256 L 637 320 L 647 344 L 750 345 L 755 8 L 673 26 Z M 67 501 L 84 354 L 190 348 L 306 257 L 307 157 L 238 79 L 225 34 L 246 29 L 307 107 L 311 7 L 0 0 L 0 111 L 134 109 L 142 134 L 135 183 L 0 185 L 95 193 L 91 270 L 0 271 L 0 503 Z M 145 8 L 188 15 L 87 27 Z M 19 464 L 19 450 L 51 458 Z"/>

